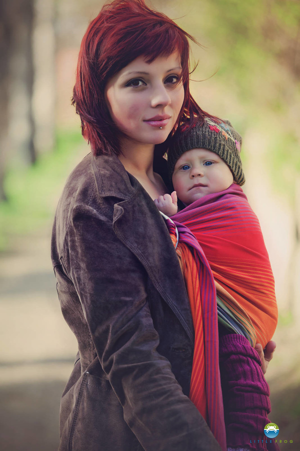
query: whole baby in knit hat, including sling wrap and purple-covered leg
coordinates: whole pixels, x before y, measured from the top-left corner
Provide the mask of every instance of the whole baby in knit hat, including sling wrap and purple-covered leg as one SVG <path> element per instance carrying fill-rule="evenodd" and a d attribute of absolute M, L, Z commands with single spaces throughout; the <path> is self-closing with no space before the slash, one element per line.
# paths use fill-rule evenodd
<path fill-rule="evenodd" d="M 204 123 L 176 134 L 167 157 L 174 191 L 154 202 L 175 224 L 184 224 L 193 233 L 209 263 L 217 295 L 227 446 L 255 449 L 256 445 L 250 445 L 251 435 L 240 437 L 238 443 L 236 438 L 241 429 L 246 435 L 248 423 L 253 426 L 248 430 L 252 433 L 256 428 L 263 438 L 260 429 L 268 422 L 268 387 L 259 373 L 253 347 L 256 342 L 264 347 L 271 339 L 277 307 L 259 222 L 240 187 L 245 182 L 241 143 L 241 136 L 227 120 L 217 123 L 205 118 Z M 184 205 L 179 212 L 177 196 Z M 251 362 L 243 353 L 241 338 L 233 334 L 248 340 L 245 346 L 252 346 Z M 251 354 L 251 349 L 247 352 Z M 247 368 L 242 371 L 247 377 L 233 375 L 238 365 Z M 239 398 L 235 399 L 237 393 Z M 254 435 L 252 438 L 254 443 Z"/>

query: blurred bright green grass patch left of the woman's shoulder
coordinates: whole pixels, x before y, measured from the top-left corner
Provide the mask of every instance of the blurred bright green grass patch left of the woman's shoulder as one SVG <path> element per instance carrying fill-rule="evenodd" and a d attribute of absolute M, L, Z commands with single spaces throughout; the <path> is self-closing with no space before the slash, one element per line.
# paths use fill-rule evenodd
<path fill-rule="evenodd" d="M 0 251 L 15 235 L 35 233 L 52 221 L 64 180 L 83 142 L 80 132 L 58 132 L 53 152 L 41 155 L 29 168 L 12 165 L 8 169 L 7 201 L 0 203 Z"/>

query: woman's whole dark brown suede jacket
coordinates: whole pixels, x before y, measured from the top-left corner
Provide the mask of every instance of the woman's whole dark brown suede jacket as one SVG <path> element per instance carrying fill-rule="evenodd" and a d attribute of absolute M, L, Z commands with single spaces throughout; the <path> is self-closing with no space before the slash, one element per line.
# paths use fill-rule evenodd
<path fill-rule="evenodd" d="M 88 154 L 70 174 L 51 256 L 78 341 L 59 451 L 219 451 L 188 399 L 193 328 L 173 245 L 116 156 Z"/>

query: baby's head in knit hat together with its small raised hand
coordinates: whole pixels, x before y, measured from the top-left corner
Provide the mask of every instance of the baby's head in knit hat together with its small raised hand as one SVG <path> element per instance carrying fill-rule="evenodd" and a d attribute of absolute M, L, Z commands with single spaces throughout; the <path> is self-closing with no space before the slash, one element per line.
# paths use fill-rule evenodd
<path fill-rule="evenodd" d="M 223 191 L 232 183 L 243 185 L 241 142 L 241 136 L 229 121 L 216 124 L 205 119 L 203 125 L 196 125 L 188 135 L 179 135 L 167 156 L 175 191 L 154 199 L 158 209 L 172 216 L 177 213 L 177 196 L 186 206 L 207 194 Z"/>

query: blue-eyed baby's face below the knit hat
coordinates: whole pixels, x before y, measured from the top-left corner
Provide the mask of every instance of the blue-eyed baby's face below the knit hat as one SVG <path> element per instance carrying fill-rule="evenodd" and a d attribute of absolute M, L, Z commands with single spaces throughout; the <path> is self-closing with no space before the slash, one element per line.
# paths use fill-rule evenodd
<path fill-rule="evenodd" d="M 216 153 L 191 149 L 177 160 L 172 182 L 178 198 L 189 205 L 206 194 L 227 189 L 233 183 L 233 175 Z"/>

